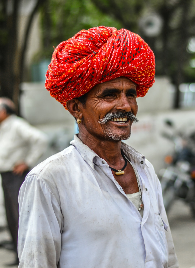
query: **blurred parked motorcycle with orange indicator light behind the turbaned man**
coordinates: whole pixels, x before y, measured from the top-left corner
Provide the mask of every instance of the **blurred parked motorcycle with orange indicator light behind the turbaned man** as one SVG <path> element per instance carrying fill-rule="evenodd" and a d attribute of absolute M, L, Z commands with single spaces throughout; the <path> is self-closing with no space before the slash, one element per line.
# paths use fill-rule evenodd
<path fill-rule="evenodd" d="M 167 168 L 160 170 L 164 207 L 168 212 L 174 200 L 181 198 L 190 205 L 195 217 L 195 132 L 185 137 L 170 120 L 165 123 L 173 133 L 163 132 L 162 136 L 175 146 L 174 153 L 164 159 Z"/>

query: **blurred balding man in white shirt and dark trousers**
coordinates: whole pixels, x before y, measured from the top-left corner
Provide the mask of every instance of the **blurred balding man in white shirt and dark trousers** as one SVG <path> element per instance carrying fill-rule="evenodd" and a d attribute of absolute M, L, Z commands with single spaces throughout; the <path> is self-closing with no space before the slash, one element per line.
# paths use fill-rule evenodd
<path fill-rule="evenodd" d="M 16 252 L 18 193 L 29 168 L 43 154 L 46 146 L 46 135 L 17 117 L 15 105 L 10 99 L 0 98 L 0 173 L 7 223 Z"/>

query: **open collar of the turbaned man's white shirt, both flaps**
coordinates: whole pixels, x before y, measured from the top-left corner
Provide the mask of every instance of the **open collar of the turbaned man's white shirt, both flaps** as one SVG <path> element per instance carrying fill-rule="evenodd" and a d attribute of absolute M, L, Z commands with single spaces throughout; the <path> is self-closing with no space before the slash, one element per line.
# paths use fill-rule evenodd
<path fill-rule="evenodd" d="M 70 144 L 74 145 L 77 151 L 81 154 L 82 158 L 89 164 L 89 166 L 94 170 L 94 158 L 100 158 L 94 151 L 92 151 L 87 145 L 85 145 L 77 136 L 74 135 L 74 140 L 70 142 Z M 121 149 L 126 155 L 126 157 L 132 162 L 132 164 L 136 164 L 144 168 L 145 166 L 145 156 L 140 154 L 140 152 L 136 151 L 131 146 L 121 142 Z"/>

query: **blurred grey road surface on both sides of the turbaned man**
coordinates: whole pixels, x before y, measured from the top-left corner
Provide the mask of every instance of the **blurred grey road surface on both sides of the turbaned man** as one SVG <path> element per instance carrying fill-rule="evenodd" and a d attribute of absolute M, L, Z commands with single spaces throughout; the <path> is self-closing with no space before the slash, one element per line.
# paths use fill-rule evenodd
<path fill-rule="evenodd" d="M 195 218 L 192 217 L 190 208 L 178 200 L 169 211 L 168 218 L 179 268 L 195 268 Z M 9 232 L 0 229 L 0 243 L 5 240 L 10 240 Z M 0 247 L 0 268 L 17 268 L 16 265 L 7 265 L 14 260 L 13 251 Z"/>

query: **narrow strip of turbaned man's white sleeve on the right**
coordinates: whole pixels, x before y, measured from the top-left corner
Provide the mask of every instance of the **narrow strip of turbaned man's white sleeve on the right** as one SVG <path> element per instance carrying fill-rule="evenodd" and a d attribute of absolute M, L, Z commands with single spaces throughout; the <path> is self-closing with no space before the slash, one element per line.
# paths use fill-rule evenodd
<path fill-rule="evenodd" d="M 159 179 L 158 180 L 158 188 L 157 188 L 157 194 L 158 194 L 158 204 L 159 204 L 159 211 L 162 219 L 168 224 L 167 214 L 164 208 L 163 204 L 163 196 L 162 196 L 162 189 Z M 173 244 L 173 239 L 171 235 L 171 230 L 168 227 L 167 231 L 165 231 L 166 239 L 167 239 L 167 245 L 168 245 L 168 268 L 179 268 L 177 256 L 175 253 L 175 247 Z"/>

